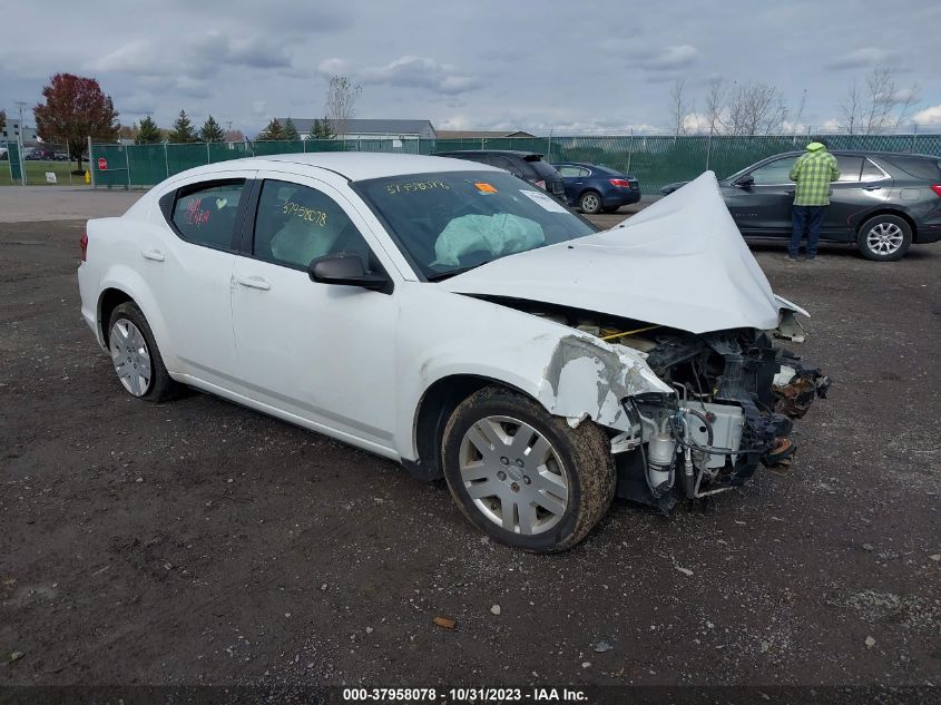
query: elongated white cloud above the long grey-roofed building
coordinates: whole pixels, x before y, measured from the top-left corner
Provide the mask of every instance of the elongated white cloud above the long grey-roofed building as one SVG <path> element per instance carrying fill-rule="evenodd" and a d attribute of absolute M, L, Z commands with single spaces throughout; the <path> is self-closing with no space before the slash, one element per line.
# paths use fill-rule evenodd
<path fill-rule="evenodd" d="M 480 78 L 461 72 L 453 63 L 439 63 L 427 57 L 403 56 L 385 66 L 351 69 L 343 59 L 321 61 L 317 70 L 324 76 L 345 72 L 362 84 L 393 88 L 422 88 L 455 96 L 482 86 Z"/>

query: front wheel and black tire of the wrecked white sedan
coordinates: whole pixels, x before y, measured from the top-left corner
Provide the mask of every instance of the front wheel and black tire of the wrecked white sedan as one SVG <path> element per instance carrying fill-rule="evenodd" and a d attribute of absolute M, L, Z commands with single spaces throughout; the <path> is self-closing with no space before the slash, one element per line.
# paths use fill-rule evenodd
<path fill-rule="evenodd" d="M 441 457 L 468 520 L 528 551 L 571 548 L 614 499 L 615 467 L 601 429 L 588 420 L 572 429 L 501 386 L 487 386 L 458 405 L 444 428 Z"/>

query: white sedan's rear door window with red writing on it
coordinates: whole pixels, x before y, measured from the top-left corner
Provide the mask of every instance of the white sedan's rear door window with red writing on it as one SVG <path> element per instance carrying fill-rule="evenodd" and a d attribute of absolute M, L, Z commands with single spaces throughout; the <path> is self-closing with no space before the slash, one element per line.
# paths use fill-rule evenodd
<path fill-rule="evenodd" d="M 232 249 L 245 179 L 185 186 L 177 192 L 171 221 L 176 232 L 196 245 Z"/>

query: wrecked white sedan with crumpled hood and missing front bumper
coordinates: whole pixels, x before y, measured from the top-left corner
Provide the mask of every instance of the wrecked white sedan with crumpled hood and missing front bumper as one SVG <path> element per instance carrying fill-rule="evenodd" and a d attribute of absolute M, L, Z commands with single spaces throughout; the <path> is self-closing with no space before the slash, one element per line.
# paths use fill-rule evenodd
<path fill-rule="evenodd" d="M 444 477 L 479 529 L 580 541 L 786 463 L 827 380 L 709 173 L 598 233 L 510 174 L 284 155 L 190 169 L 89 221 L 81 312 L 124 389 L 217 394 Z"/>

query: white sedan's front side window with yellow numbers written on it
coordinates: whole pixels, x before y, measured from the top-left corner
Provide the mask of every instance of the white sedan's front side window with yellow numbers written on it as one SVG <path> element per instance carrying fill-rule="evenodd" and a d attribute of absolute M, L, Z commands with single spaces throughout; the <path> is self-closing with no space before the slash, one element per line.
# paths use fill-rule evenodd
<path fill-rule="evenodd" d="M 355 253 L 369 270 L 369 245 L 350 216 L 326 194 L 290 182 L 266 180 L 258 199 L 252 254 L 306 268 L 312 260 Z"/>

